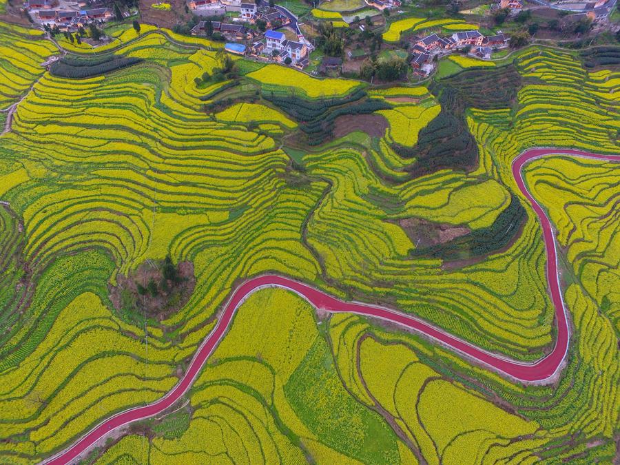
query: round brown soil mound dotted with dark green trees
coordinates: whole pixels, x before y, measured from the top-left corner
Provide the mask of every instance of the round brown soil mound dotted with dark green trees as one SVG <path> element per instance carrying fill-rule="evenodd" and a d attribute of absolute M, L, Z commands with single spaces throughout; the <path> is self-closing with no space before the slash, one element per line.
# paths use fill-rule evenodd
<path fill-rule="evenodd" d="M 161 322 L 187 303 L 195 285 L 194 265 L 179 262 L 175 267 L 167 257 L 147 260 L 127 276 L 119 275 L 108 290 L 114 309 L 125 318 L 146 316 Z"/>

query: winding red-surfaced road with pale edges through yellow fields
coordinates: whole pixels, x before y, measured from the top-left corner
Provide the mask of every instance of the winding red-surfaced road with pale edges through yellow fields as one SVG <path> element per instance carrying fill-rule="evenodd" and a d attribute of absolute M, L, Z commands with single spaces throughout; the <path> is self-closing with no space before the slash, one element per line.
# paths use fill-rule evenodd
<path fill-rule="evenodd" d="M 192 385 L 192 382 L 194 382 L 198 376 L 203 364 L 205 364 L 207 358 L 209 358 L 209 355 L 213 353 L 214 349 L 218 345 L 218 342 L 220 342 L 220 340 L 224 337 L 232 322 L 235 311 L 238 309 L 240 304 L 242 304 L 249 294 L 265 287 L 280 287 L 283 289 L 289 289 L 297 293 L 299 296 L 302 296 L 302 298 L 310 302 L 317 309 L 323 309 L 333 313 L 358 313 L 359 315 L 381 318 L 395 324 L 400 324 L 409 329 L 415 329 L 415 331 L 419 331 L 420 333 L 423 333 L 428 337 L 451 347 L 454 351 L 466 355 L 475 362 L 478 362 L 479 364 L 482 364 L 490 369 L 495 369 L 496 371 L 509 375 L 517 380 L 524 382 L 535 382 L 544 381 L 551 378 L 560 369 L 561 364 L 566 357 L 570 333 L 568 329 L 566 309 L 564 307 L 564 301 L 562 300 L 562 294 L 559 287 L 557 255 L 555 250 L 553 229 L 550 220 L 544 213 L 544 210 L 540 207 L 540 205 L 538 205 L 538 203 L 536 203 L 534 198 L 528 192 L 523 177 L 521 176 L 521 169 L 526 163 L 528 163 L 528 161 L 550 154 L 564 154 L 588 158 L 600 158 L 608 161 L 620 161 L 620 156 L 615 155 L 598 155 L 589 152 L 582 152 L 581 150 L 546 148 L 527 150 L 513 161 L 513 176 L 515 177 L 517 186 L 530 201 L 540 220 L 541 227 L 543 229 L 543 238 L 546 245 L 546 274 L 549 280 L 550 297 L 555 307 L 557 340 L 553 351 L 545 358 L 542 358 L 534 363 L 522 363 L 516 360 L 510 360 L 502 355 L 493 354 L 483 349 L 479 349 L 464 340 L 455 338 L 448 333 L 444 333 L 444 331 L 433 327 L 431 324 L 399 311 L 384 307 L 374 307 L 358 302 L 342 302 L 341 300 L 333 298 L 309 285 L 304 285 L 301 282 L 284 278 L 282 276 L 259 276 L 258 278 L 253 278 L 243 283 L 235 289 L 225 305 L 214 331 L 212 331 L 200 345 L 198 351 L 196 351 L 196 354 L 192 359 L 192 362 L 189 364 L 187 372 L 183 375 L 183 378 L 181 378 L 178 384 L 174 386 L 172 391 L 169 391 L 167 395 L 152 404 L 127 410 L 114 415 L 108 420 L 104 420 L 101 424 L 95 426 L 89 433 L 86 433 L 83 437 L 81 437 L 81 439 L 79 439 L 72 446 L 54 455 L 54 457 L 50 457 L 50 459 L 46 460 L 44 463 L 53 465 L 68 464 L 83 453 L 83 451 L 90 448 L 90 446 L 92 446 L 92 444 L 96 441 L 100 440 L 102 437 L 105 437 L 105 435 L 110 433 L 110 431 L 130 422 L 134 422 L 135 420 L 152 417 L 153 415 L 169 408 L 169 406 L 172 406 L 172 404 L 174 404 L 174 402 L 176 402 L 187 391 L 187 389 L 189 389 L 189 386 Z"/>

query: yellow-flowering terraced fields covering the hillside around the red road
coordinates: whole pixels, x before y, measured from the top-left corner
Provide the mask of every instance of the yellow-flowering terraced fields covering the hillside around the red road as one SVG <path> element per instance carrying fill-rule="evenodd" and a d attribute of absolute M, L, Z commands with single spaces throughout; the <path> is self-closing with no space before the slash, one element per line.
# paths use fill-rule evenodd
<path fill-rule="evenodd" d="M 140 63 L 68 79 L 39 66 L 55 45 L 0 28 L 12 57 L 0 70 L 19 76 L 0 81 L 19 83 L 1 92 L 3 107 L 25 96 L 0 136 L 0 462 L 50 457 L 167 393 L 231 289 L 264 273 L 397 307 L 499 355 L 533 362 L 550 351 L 541 227 L 510 167 L 537 146 L 618 154 L 617 72 L 528 48 L 510 70 L 457 74 L 442 92 L 242 61 L 238 74 L 203 82 L 220 66 L 213 44 L 122 36 L 106 53 Z M 490 72 L 505 83 L 495 94 Z M 321 122 L 345 114 L 387 129 L 335 138 Z M 421 172 L 422 156 L 443 156 L 425 144 L 447 143 L 458 124 L 471 147 L 457 153 L 475 163 Z M 619 167 L 552 157 L 525 178 L 565 262 L 574 342 L 550 384 L 265 289 L 178 404 L 98 444 L 88 462 L 609 462 Z M 126 318 L 110 288 L 166 256 L 193 265 L 187 303 Z"/>

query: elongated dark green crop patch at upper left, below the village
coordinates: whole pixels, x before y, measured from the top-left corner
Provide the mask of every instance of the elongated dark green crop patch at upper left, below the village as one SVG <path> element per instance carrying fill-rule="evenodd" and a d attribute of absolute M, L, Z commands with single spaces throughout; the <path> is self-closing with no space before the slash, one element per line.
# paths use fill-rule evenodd
<path fill-rule="evenodd" d="M 85 79 L 127 68 L 142 61 L 141 58 L 118 55 L 106 55 L 96 59 L 65 56 L 50 65 L 50 74 L 62 78 Z"/>

